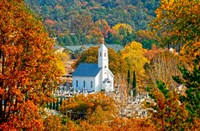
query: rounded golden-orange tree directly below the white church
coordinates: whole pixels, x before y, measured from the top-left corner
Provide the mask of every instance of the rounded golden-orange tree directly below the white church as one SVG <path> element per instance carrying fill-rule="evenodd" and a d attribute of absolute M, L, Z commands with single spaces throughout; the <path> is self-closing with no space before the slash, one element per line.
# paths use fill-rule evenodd
<path fill-rule="evenodd" d="M 63 101 L 60 111 L 73 120 L 87 120 L 90 124 L 102 123 L 117 116 L 115 101 L 103 93 L 69 98 Z"/>

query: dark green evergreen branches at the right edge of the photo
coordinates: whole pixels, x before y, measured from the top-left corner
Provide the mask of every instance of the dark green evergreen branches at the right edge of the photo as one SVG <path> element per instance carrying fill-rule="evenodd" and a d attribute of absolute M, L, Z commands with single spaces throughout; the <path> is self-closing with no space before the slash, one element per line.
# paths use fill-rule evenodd
<path fill-rule="evenodd" d="M 181 102 L 187 103 L 187 110 L 191 115 L 191 118 L 198 117 L 200 118 L 200 69 L 199 69 L 199 59 L 200 56 L 196 56 L 194 60 L 194 68 L 193 71 L 190 72 L 186 69 L 185 66 L 179 66 L 179 70 L 183 74 L 183 78 L 178 76 L 174 76 L 173 79 L 187 87 L 185 96 L 180 96 Z"/>

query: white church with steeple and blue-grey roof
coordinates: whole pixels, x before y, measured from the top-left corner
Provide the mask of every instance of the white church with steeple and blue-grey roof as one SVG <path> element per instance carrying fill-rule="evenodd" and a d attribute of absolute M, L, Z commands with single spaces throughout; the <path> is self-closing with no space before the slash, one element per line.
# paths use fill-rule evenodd
<path fill-rule="evenodd" d="M 75 91 L 114 91 L 114 75 L 108 66 L 108 49 L 101 44 L 98 49 L 98 64 L 80 63 L 72 75 Z"/>

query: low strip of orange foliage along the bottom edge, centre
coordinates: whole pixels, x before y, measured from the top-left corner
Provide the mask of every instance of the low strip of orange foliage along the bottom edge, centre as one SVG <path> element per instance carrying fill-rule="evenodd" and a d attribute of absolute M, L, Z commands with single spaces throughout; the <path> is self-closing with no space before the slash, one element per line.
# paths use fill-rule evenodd
<path fill-rule="evenodd" d="M 145 119 L 136 118 L 114 118 L 99 124 L 90 124 L 87 121 L 81 121 L 75 124 L 72 121 L 67 123 L 68 130 L 84 130 L 84 131 L 155 131 L 153 124 L 146 122 Z"/>

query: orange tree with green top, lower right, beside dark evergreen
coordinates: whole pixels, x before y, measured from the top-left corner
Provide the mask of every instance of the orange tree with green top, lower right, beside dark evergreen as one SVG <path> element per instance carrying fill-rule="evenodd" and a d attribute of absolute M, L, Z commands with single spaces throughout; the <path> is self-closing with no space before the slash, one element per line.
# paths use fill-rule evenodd
<path fill-rule="evenodd" d="M 162 81 L 157 81 L 157 86 L 149 89 L 155 104 L 147 103 L 146 106 L 154 110 L 150 120 L 156 129 L 188 130 L 189 123 L 186 121 L 188 112 L 185 103 L 180 103 L 178 94 L 169 90 Z"/>

